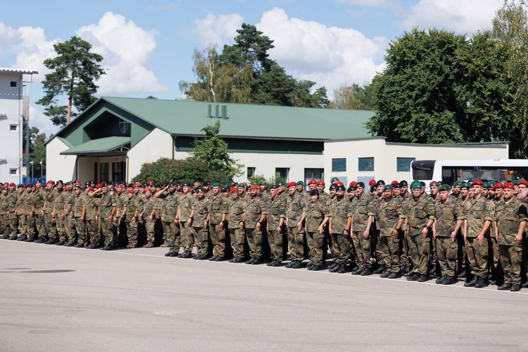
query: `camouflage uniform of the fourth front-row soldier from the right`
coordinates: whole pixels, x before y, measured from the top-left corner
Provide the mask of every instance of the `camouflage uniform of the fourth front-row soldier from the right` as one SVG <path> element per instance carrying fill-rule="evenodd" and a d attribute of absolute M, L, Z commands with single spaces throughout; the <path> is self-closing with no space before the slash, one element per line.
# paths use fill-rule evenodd
<path fill-rule="evenodd" d="M 423 238 L 422 230 L 430 219 L 435 220 L 435 210 L 431 198 L 414 197 L 407 203 L 404 211 L 407 217 L 407 231 L 409 240 L 409 254 L 412 262 L 412 272 L 427 275 L 429 263 L 431 234 Z"/>

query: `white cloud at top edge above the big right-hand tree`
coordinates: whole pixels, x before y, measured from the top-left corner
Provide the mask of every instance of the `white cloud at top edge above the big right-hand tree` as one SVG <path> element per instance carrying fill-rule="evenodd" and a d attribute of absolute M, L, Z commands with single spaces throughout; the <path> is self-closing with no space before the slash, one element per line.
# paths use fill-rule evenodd
<path fill-rule="evenodd" d="M 491 27 L 495 12 L 503 4 L 503 0 L 420 0 L 410 7 L 400 26 L 404 30 L 435 27 L 473 34 Z"/>

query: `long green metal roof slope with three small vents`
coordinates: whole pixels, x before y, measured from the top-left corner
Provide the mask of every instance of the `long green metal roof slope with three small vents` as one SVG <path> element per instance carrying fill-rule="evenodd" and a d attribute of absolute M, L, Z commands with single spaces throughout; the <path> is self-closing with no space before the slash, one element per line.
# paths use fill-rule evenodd
<path fill-rule="evenodd" d="M 362 138 L 374 111 L 294 108 L 257 104 L 102 97 L 101 99 L 175 135 L 203 135 L 201 129 L 219 120 L 220 135 L 263 138 L 336 139 Z M 209 106 L 211 115 L 209 116 Z M 81 117 L 81 116 L 79 116 Z M 79 118 L 77 117 L 77 118 Z"/>

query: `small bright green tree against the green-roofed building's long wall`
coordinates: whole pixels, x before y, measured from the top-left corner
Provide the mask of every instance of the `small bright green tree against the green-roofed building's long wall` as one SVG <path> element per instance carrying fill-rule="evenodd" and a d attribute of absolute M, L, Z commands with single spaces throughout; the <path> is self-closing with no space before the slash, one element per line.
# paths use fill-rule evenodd
<path fill-rule="evenodd" d="M 220 121 L 216 121 L 213 126 L 205 126 L 202 131 L 205 132 L 205 137 L 194 139 L 192 157 L 203 161 L 211 170 L 217 170 L 228 176 L 230 180 L 234 176 L 241 175 L 242 165 L 231 158 L 227 142 L 218 136 Z"/>

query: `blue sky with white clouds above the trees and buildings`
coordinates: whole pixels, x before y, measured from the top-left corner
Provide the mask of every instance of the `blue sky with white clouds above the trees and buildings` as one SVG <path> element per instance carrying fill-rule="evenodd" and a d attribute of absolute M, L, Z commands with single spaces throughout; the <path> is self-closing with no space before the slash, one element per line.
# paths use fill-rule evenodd
<path fill-rule="evenodd" d="M 0 66 L 41 72 L 54 43 L 80 35 L 105 58 L 98 95 L 174 99 L 193 80 L 193 49 L 231 43 L 242 22 L 256 24 L 276 47 L 270 56 L 299 79 L 332 89 L 369 82 L 383 70 L 390 41 L 412 27 L 474 33 L 491 25 L 502 0 L 0 1 Z M 89 5 L 87 5 L 89 4 Z M 32 104 L 35 126 L 56 131 Z"/>

